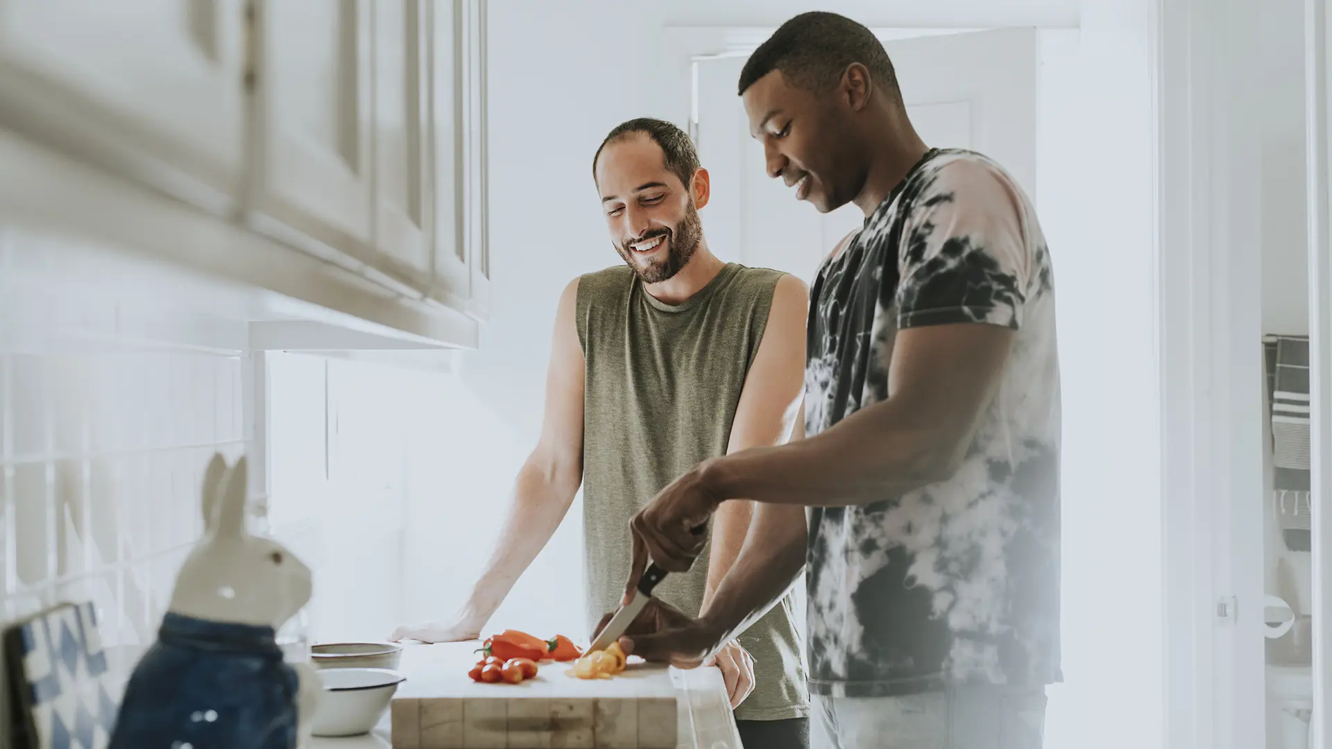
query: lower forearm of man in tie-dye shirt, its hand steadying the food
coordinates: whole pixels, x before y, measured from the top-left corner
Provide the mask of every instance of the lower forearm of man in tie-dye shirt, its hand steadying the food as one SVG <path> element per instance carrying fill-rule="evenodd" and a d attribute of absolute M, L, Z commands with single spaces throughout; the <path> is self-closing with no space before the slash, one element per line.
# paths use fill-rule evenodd
<path fill-rule="evenodd" d="M 805 566 L 806 528 L 803 508 L 755 506 L 745 548 L 701 617 L 717 645 L 745 632 L 791 588 Z"/>

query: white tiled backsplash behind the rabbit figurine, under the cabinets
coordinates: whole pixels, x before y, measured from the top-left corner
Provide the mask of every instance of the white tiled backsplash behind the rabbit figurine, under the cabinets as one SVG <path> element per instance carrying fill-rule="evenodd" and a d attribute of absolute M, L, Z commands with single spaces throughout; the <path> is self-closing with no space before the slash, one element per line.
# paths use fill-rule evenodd
<path fill-rule="evenodd" d="M 246 324 L 68 283 L 41 244 L 0 229 L 3 617 L 92 600 L 111 644 L 145 644 L 204 466 L 253 437 Z"/>

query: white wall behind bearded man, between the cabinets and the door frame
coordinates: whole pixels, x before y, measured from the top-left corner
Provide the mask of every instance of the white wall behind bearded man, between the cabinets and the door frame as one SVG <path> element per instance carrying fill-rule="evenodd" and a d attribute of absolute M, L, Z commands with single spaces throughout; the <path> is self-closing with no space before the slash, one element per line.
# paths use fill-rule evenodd
<path fill-rule="evenodd" d="M 464 359 L 472 406 L 505 433 L 476 454 L 477 472 L 462 490 L 482 522 L 507 506 L 517 466 L 535 444 L 545 400 L 555 303 L 575 276 L 619 263 L 606 233 L 591 180 L 591 157 L 613 127 L 638 116 L 663 116 L 653 105 L 659 71 L 655 4 L 494 1 L 490 4 L 490 244 L 493 312 L 481 351 Z M 493 628 L 522 628 L 523 617 L 553 613 L 550 626 L 583 634 L 582 506 L 519 580 Z M 437 516 L 437 521 L 442 521 Z M 481 533 L 480 536 L 485 536 Z M 489 549 L 453 561 L 413 546 L 413 590 L 436 589 L 448 617 L 461 604 Z M 551 596 L 555 597 L 551 601 Z M 537 606 L 535 601 L 547 605 Z"/>

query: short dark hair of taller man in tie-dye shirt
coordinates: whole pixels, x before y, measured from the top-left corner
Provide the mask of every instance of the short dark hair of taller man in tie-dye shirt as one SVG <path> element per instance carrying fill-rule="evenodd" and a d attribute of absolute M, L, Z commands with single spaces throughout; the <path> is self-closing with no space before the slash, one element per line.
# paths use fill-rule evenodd
<path fill-rule="evenodd" d="M 902 100 L 898 75 L 878 37 L 846 16 L 823 11 L 801 13 L 773 32 L 745 63 L 739 95 L 773 71 L 781 71 L 791 85 L 823 92 L 842 80 L 851 63 L 868 68 L 879 88 Z"/>

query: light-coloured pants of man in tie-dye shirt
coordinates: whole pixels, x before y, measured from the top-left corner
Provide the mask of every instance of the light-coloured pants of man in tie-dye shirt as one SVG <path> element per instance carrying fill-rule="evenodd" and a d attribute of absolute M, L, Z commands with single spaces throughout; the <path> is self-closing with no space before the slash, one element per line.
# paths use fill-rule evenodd
<path fill-rule="evenodd" d="M 1046 690 L 959 688 L 814 702 L 814 749 L 1040 749 Z"/>

